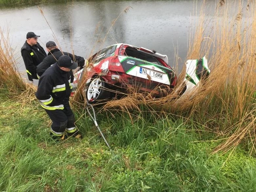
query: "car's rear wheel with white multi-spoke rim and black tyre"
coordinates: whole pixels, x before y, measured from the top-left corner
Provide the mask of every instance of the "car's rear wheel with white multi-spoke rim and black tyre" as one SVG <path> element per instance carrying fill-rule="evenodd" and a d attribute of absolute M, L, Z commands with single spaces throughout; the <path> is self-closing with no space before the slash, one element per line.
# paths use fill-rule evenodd
<path fill-rule="evenodd" d="M 102 77 L 93 77 L 86 90 L 87 101 L 89 101 L 89 103 L 104 102 L 104 99 L 109 98 L 109 91 L 107 87 L 107 83 Z"/>

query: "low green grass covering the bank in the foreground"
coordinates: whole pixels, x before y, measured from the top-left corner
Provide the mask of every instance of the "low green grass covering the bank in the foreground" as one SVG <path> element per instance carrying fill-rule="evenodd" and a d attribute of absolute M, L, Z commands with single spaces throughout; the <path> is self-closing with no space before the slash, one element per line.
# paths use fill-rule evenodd
<path fill-rule="evenodd" d="M 256 190 L 255 158 L 211 154 L 214 134 L 182 117 L 98 113 L 110 151 L 88 114 L 77 121 L 82 140 L 56 143 L 37 103 L 0 100 L 0 191 Z"/>

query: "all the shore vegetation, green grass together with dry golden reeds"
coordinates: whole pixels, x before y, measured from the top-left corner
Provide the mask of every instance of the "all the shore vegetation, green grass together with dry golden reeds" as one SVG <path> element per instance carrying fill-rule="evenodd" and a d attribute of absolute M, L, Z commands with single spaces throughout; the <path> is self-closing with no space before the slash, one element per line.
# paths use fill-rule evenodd
<path fill-rule="evenodd" d="M 80 97 L 72 105 L 84 138 L 49 137 L 36 87 L 22 81 L 1 32 L 0 191 L 256 191 L 256 13 L 238 6 L 230 19 L 218 6 L 215 27 L 202 17 L 190 38 L 188 58 L 211 55 L 199 94 L 107 103 L 97 122 L 112 151 Z"/>

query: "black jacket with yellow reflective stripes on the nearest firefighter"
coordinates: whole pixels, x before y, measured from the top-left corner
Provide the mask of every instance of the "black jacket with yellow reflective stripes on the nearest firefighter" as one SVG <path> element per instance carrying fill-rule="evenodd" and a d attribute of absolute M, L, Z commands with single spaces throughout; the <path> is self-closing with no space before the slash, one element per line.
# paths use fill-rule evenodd
<path fill-rule="evenodd" d="M 43 108 L 63 110 L 63 104 L 69 101 L 73 80 L 72 70 L 65 72 L 55 63 L 40 77 L 35 96 Z"/>

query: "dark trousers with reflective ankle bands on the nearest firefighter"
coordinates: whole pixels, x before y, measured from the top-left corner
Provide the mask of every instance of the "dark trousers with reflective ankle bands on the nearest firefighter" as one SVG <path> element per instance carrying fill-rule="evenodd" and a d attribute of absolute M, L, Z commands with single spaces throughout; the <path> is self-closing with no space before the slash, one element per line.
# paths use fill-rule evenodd
<path fill-rule="evenodd" d="M 67 133 L 77 131 L 75 127 L 75 115 L 70 108 L 69 102 L 65 102 L 64 109 L 48 110 L 46 113 L 52 120 L 51 132 L 55 136 L 62 136 L 66 130 Z"/>

